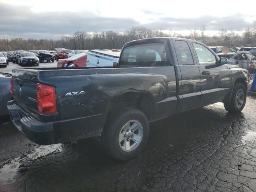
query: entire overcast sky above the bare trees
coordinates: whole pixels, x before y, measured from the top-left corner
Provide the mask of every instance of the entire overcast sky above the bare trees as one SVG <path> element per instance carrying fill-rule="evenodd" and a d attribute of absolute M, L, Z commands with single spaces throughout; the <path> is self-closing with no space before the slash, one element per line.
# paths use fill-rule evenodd
<path fill-rule="evenodd" d="M 211 3 L 212 2 L 212 3 Z M 0 0 L 0 38 L 52 38 L 77 30 L 102 32 L 147 28 L 177 31 L 206 26 L 242 32 L 256 20 L 256 1 Z"/>

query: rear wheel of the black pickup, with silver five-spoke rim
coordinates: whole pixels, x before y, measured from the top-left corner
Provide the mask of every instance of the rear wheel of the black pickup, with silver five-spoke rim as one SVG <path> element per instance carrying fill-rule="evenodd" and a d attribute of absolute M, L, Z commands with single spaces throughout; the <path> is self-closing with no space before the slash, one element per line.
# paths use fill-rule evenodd
<path fill-rule="evenodd" d="M 132 125 L 135 124 L 137 129 L 132 130 Z M 129 127 L 129 132 L 124 125 Z M 102 132 L 102 145 L 113 158 L 123 161 L 130 160 L 140 154 L 146 146 L 148 134 L 149 124 L 145 114 L 137 109 L 124 108 L 110 112 L 108 115 L 106 126 Z M 138 143 L 134 142 L 135 135 Z M 125 146 L 126 143 L 129 143 L 130 148 Z"/>

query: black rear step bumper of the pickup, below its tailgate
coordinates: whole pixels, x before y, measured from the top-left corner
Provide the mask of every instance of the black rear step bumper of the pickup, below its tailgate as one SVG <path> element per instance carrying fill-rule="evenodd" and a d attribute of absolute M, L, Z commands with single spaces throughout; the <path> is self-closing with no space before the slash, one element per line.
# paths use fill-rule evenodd
<path fill-rule="evenodd" d="M 40 145 L 54 143 L 53 123 L 40 122 L 14 102 L 7 102 L 10 118 L 16 128 L 32 142 Z"/>

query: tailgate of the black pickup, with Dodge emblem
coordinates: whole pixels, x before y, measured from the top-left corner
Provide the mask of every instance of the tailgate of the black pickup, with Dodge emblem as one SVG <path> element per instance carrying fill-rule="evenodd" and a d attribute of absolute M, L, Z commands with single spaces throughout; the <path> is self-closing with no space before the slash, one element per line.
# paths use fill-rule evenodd
<path fill-rule="evenodd" d="M 18 104 L 36 114 L 38 113 L 36 102 L 37 71 L 17 68 L 12 71 L 14 99 Z"/>

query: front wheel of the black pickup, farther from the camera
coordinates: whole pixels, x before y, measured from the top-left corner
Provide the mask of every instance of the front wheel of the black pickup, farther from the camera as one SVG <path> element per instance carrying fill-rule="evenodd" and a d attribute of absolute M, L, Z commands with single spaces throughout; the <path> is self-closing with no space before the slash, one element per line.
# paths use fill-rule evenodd
<path fill-rule="evenodd" d="M 242 94 L 243 94 L 243 97 L 242 97 Z M 230 102 L 224 101 L 225 109 L 228 112 L 232 112 L 232 113 L 241 112 L 246 104 L 246 96 L 247 96 L 247 92 L 244 85 L 241 83 L 236 83 L 233 88 Z M 239 101 L 238 101 L 238 98 L 239 98 Z"/>

